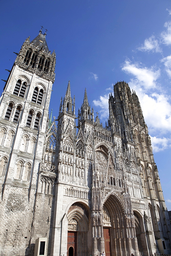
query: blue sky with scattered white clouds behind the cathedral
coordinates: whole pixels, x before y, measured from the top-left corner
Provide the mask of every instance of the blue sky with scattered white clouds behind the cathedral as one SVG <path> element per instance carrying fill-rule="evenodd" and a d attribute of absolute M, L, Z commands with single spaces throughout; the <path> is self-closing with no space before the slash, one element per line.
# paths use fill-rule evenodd
<path fill-rule="evenodd" d="M 50 110 L 58 116 L 68 80 L 76 114 L 88 100 L 104 124 L 113 84 L 126 81 L 139 97 L 154 159 L 171 210 L 171 2 L 169 0 L 1 1 L 1 79 L 6 80 L 24 40 L 42 25 L 56 51 Z M 1 91 L 4 82 L 0 81 Z"/>

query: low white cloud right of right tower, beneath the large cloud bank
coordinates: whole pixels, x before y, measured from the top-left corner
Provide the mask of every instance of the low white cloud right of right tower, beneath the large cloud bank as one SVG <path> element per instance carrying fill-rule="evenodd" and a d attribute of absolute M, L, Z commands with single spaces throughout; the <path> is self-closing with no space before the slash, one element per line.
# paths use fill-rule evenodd
<path fill-rule="evenodd" d="M 163 151 L 168 147 L 171 147 L 170 138 L 157 138 L 156 136 L 151 137 L 151 143 L 153 147 L 153 152 Z"/>

